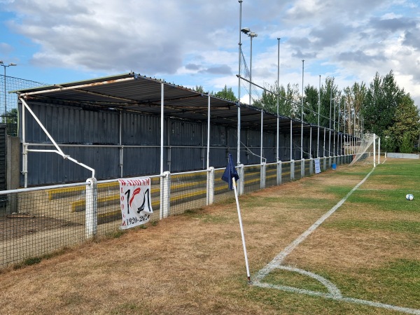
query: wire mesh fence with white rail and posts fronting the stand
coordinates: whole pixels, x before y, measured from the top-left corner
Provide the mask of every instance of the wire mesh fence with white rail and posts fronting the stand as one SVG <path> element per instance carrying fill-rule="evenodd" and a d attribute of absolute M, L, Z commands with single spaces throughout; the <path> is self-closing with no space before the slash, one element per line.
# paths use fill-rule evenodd
<path fill-rule="evenodd" d="M 332 160 L 344 164 L 352 156 L 320 159 L 321 169 Z M 311 160 L 242 166 L 239 193 L 286 183 L 314 174 Z M 295 177 L 293 178 L 293 172 Z M 325 169 L 324 169 L 325 170 Z M 234 199 L 221 179 L 224 169 L 151 176 L 150 220 Z M 279 176 L 279 177 L 278 177 Z M 80 244 L 94 235 L 107 235 L 122 224 L 118 180 L 90 181 L 62 186 L 25 188 L 0 192 L 0 267 L 42 257 L 67 246 Z M 94 195 L 92 195 L 92 191 Z M 94 211 L 92 211 L 94 209 Z"/>

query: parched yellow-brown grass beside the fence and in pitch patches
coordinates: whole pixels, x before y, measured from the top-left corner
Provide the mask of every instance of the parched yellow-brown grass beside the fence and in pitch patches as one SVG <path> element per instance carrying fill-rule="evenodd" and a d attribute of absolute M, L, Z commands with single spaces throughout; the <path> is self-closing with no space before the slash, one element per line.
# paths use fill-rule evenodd
<path fill-rule="evenodd" d="M 360 179 L 363 175 L 326 172 L 241 196 L 251 274 L 330 209 L 319 202 L 308 207 L 308 200 L 310 204 L 311 198 L 322 196 L 325 204 L 335 204 L 341 198 L 325 193 L 325 188 L 343 183 L 353 187 Z M 300 198 L 302 189 L 305 200 Z M 337 216 L 357 214 L 343 209 Z M 332 271 L 377 267 L 394 257 L 415 258 L 420 242 L 406 241 L 381 231 L 321 227 L 286 263 Z M 3 272 L 0 288 L 1 314 L 393 314 L 248 286 L 233 200 Z"/>

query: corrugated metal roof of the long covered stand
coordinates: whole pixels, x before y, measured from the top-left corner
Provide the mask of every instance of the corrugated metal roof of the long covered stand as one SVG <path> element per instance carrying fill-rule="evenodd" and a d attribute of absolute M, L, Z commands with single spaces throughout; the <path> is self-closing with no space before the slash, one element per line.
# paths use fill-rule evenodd
<path fill-rule="evenodd" d="M 208 95 L 190 90 L 164 80 L 125 73 L 104 78 L 80 80 L 14 91 L 29 101 L 48 102 L 97 108 L 102 110 L 136 111 L 160 116 L 162 85 L 164 87 L 165 116 L 207 121 Z M 241 107 L 241 127 L 260 130 L 260 109 L 245 104 Z M 300 120 L 279 117 L 281 133 L 290 132 L 292 120 L 293 134 L 300 134 Z M 211 96 L 211 123 L 237 126 L 237 102 Z M 311 125 L 304 124 L 304 134 L 309 134 Z M 314 126 L 312 126 L 314 127 Z M 276 116 L 264 114 L 265 132 L 276 132 Z"/>

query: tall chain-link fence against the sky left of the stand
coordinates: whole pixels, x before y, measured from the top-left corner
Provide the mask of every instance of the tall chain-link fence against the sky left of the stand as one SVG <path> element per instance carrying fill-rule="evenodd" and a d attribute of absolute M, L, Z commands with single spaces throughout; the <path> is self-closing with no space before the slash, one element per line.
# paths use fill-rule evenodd
<path fill-rule="evenodd" d="M 47 84 L 0 75 L 0 123 L 6 124 L 7 134 L 18 136 L 18 94 L 9 92 L 44 85 Z"/>

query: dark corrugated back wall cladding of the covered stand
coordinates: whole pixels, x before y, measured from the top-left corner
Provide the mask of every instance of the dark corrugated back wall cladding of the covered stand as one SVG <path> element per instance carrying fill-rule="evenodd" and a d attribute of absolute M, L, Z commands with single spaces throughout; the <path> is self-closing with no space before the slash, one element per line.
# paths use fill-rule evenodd
<path fill-rule="evenodd" d="M 29 102 L 29 106 L 62 151 L 71 158 L 94 168 L 97 179 L 116 179 L 121 176 L 121 149 L 104 146 L 120 143 L 120 122 L 121 144 L 125 146 L 122 161 L 123 177 L 160 173 L 160 117 L 127 112 L 120 114 L 118 111 L 92 111 L 76 106 L 57 106 L 39 102 Z M 25 117 L 26 141 L 30 144 L 50 144 L 50 140 L 28 111 Z M 185 172 L 207 167 L 207 122 L 165 118 L 164 128 L 165 171 Z M 20 126 L 20 135 L 22 135 L 22 126 Z M 241 163 L 245 165 L 260 163 L 260 139 L 260 130 L 241 130 Z M 275 162 L 276 134 L 265 132 L 262 141 L 263 156 L 267 162 Z M 280 158 L 288 160 L 290 134 L 280 134 L 279 141 Z M 298 160 L 300 137 L 293 137 L 293 143 L 293 158 Z M 309 146 L 309 141 L 305 139 L 304 144 Z M 210 146 L 210 166 L 225 167 L 228 153 L 232 153 L 236 164 L 237 129 L 211 125 Z M 52 146 L 30 146 L 30 148 L 53 149 Z M 90 176 L 90 171 L 64 160 L 58 154 L 28 153 L 29 186 L 85 181 Z"/>

